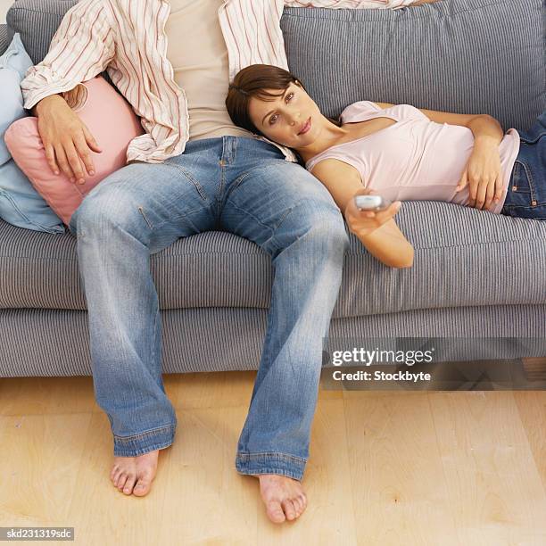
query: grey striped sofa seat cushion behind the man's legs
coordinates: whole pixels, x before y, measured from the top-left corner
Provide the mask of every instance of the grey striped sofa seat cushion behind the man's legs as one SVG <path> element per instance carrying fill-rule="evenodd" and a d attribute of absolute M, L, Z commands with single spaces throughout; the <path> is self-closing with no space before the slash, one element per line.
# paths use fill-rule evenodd
<path fill-rule="evenodd" d="M 546 304 L 546 222 L 434 201 L 403 203 L 397 219 L 415 246 L 413 268 L 386 267 L 351 236 L 335 318 Z M 0 308 L 86 309 L 76 251 L 75 237 L 0 221 Z M 181 238 L 150 263 L 161 309 L 269 308 L 269 255 L 242 237 Z"/>

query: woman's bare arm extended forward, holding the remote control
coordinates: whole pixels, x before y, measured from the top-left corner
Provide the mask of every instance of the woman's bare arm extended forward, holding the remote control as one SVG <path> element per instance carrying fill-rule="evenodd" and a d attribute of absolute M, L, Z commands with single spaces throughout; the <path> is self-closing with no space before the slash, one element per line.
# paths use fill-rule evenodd
<path fill-rule="evenodd" d="M 413 265 L 413 246 L 393 219 L 400 210 L 400 202 L 391 204 L 385 211 L 360 211 L 353 197 L 373 192 L 362 186 L 358 171 L 343 161 L 319 161 L 312 174 L 327 187 L 351 232 L 359 237 L 368 252 L 392 268 Z"/>

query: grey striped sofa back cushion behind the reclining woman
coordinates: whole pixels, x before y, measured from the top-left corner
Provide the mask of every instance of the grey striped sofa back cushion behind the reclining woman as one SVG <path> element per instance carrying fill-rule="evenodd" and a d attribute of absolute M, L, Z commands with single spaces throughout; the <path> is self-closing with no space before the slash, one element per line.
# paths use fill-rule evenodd
<path fill-rule="evenodd" d="M 542 0 L 400 10 L 286 8 L 290 70 L 328 117 L 360 100 L 488 113 L 528 128 L 546 107 Z"/>

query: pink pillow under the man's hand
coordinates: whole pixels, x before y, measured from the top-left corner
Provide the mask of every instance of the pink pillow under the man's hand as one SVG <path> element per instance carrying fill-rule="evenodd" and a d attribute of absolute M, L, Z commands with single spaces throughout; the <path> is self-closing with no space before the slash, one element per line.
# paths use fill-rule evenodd
<path fill-rule="evenodd" d="M 29 116 L 17 120 L 4 134 L 13 160 L 67 226 L 84 197 L 103 178 L 126 165 L 129 142 L 145 132 L 130 104 L 102 76 L 95 76 L 83 84 L 87 87 L 87 98 L 74 112 L 78 112 L 103 151 L 90 151 L 95 174 L 90 176 L 85 171 L 84 184 L 70 182 L 62 170 L 58 175 L 51 170 L 37 130 L 37 118 Z"/>

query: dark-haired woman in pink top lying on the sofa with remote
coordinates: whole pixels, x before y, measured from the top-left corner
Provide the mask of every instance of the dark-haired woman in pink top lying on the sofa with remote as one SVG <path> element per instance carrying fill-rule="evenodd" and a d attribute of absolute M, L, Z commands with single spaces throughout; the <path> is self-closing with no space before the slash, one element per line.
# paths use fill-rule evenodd
<path fill-rule="evenodd" d="M 546 112 L 526 136 L 514 128 L 504 134 L 486 114 L 409 104 L 360 101 L 336 121 L 318 110 L 293 74 L 268 64 L 239 71 L 226 105 L 240 127 L 293 148 L 327 186 L 352 233 L 388 266 L 413 264 L 413 247 L 393 219 L 401 201 L 546 219 Z M 360 194 L 393 203 L 360 211 L 353 199 Z"/>

